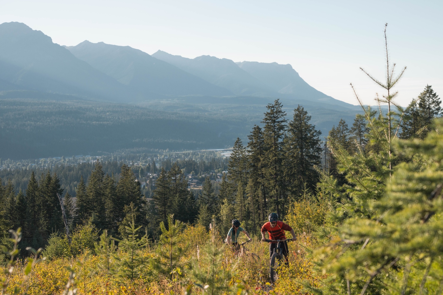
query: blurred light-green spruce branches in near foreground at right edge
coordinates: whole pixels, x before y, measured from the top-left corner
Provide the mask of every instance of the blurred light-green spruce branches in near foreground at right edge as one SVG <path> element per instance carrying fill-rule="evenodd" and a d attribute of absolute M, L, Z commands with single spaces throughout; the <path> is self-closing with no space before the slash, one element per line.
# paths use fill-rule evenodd
<path fill-rule="evenodd" d="M 442 120 L 436 127 L 443 128 Z M 385 194 L 371 202 L 372 215 L 347 218 L 338 238 L 316 250 L 321 269 L 330 273 L 323 294 L 441 292 L 441 142 L 436 131 L 424 141 L 393 142 L 409 161 L 396 166 Z"/>

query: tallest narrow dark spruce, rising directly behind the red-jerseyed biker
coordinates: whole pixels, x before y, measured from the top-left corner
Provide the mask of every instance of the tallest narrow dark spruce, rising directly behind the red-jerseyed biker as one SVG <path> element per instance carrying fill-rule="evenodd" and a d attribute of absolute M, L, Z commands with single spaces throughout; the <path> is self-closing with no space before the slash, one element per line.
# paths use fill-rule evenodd
<path fill-rule="evenodd" d="M 280 100 L 275 100 L 273 104 L 269 103 L 264 113 L 263 138 L 266 146 L 264 152 L 264 180 L 268 188 L 268 194 L 272 198 L 272 210 L 280 215 L 280 204 L 283 203 L 284 187 L 283 187 L 283 138 L 286 130 L 285 119 L 286 112 L 283 111 L 283 105 Z"/>

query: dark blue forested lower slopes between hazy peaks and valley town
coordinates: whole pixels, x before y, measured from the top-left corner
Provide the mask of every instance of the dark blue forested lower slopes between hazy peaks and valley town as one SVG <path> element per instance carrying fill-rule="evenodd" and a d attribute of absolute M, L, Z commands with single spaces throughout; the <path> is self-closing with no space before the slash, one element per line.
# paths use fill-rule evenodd
<path fill-rule="evenodd" d="M 73 155 L 101 156 L 117 151 L 198 150 L 232 146 L 260 124 L 265 98 L 188 97 L 137 105 L 73 100 L 74 96 L 28 92 L 0 93 L 0 158 L 32 159 Z M 43 98 L 47 97 L 47 100 Z M 4 99 L 2 99 L 4 98 Z M 309 101 L 284 101 L 290 114 L 300 103 L 326 134 L 357 111 Z"/>

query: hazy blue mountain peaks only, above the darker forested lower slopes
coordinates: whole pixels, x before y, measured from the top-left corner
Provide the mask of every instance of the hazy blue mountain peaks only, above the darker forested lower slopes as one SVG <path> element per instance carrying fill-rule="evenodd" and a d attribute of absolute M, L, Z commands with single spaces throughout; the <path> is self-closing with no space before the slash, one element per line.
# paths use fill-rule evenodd
<path fill-rule="evenodd" d="M 0 91 L 33 90 L 124 103 L 175 96 L 256 96 L 351 106 L 317 91 L 291 65 L 194 59 L 84 41 L 60 46 L 23 23 L 0 25 Z"/>

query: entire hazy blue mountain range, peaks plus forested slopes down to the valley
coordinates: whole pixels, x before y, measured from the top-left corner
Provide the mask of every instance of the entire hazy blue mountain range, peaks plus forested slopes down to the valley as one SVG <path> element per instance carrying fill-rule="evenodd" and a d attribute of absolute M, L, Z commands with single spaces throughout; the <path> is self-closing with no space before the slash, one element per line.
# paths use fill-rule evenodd
<path fill-rule="evenodd" d="M 307 84 L 291 65 L 193 59 L 84 41 L 60 46 L 0 24 L 0 158 L 202 149 L 247 142 L 266 105 L 302 105 L 325 136 L 356 106 Z"/>

